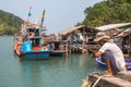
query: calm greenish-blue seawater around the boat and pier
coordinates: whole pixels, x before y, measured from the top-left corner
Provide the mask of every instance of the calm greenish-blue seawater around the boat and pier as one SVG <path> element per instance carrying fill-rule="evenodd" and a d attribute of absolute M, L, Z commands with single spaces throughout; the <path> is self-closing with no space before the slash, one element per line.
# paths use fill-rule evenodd
<path fill-rule="evenodd" d="M 20 60 L 13 53 L 13 37 L 0 37 L 0 87 L 81 87 L 96 71 L 103 70 L 92 54 Z"/>

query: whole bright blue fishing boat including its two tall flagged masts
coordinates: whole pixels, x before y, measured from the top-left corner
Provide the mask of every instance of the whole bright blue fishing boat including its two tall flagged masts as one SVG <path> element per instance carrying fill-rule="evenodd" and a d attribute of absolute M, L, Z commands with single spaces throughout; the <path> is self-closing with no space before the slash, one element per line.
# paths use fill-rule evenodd
<path fill-rule="evenodd" d="M 31 10 L 32 8 L 29 8 L 29 15 L 22 25 L 21 32 L 14 35 L 14 53 L 21 59 L 47 59 L 52 50 L 48 49 L 48 45 L 43 45 L 43 38 L 46 35 L 43 27 L 45 10 L 40 24 L 28 22 Z"/>

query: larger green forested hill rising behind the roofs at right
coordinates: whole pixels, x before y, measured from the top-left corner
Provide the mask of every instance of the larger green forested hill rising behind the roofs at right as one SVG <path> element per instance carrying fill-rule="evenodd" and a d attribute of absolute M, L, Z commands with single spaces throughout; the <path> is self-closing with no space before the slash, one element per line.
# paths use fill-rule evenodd
<path fill-rule="evenodd" d="M 96 27 L 131 22 L 131 0 L 104 0 L 84 11 L 85 18 L 78 25 Z"/>

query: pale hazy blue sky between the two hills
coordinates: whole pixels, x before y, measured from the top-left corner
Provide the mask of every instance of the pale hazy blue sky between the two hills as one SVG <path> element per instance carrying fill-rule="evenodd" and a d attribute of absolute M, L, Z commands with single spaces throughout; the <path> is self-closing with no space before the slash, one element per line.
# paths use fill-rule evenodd
<path fill-rule="evenodd" d="M 102 0 L 1 0 L 0 10 L 13 13 L 23 20 L 27 18 L 28 9 L 32 7 L 29 22 L 40 21 L 45 10 L 44 26 L 48 34 L 73 27 L 81 23 L 85 15 L 84 10 Z"/>

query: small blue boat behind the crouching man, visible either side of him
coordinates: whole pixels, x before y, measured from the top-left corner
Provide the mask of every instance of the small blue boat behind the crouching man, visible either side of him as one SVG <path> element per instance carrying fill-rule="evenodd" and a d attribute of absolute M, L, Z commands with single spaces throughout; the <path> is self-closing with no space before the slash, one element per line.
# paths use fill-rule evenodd
<path fill-rule="evenodd" d="M 100 67 L 106 67 L 107 65 L 102 61 L 102 58 L 99 57 L 99 58 L 96 58 L 96 62 L 98 63 L 98 65 L 100 66 Z M 127 70 L 128 71 L 131 71 L 131 61 L 130 60 L 126 60 L 126 63 L 128 64 L 128 66 L 127 66 Z"/>

